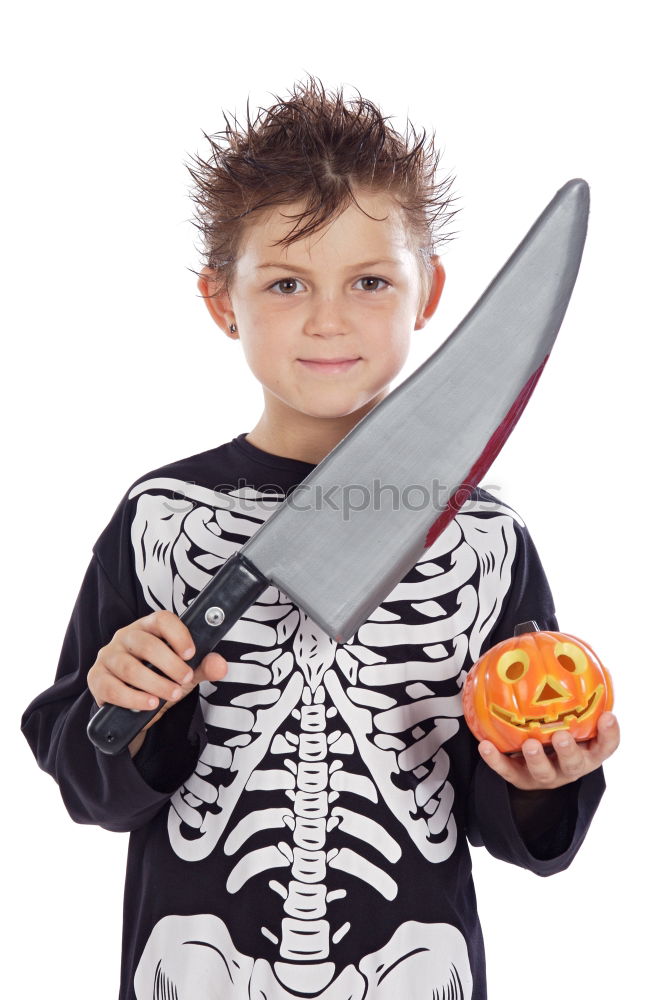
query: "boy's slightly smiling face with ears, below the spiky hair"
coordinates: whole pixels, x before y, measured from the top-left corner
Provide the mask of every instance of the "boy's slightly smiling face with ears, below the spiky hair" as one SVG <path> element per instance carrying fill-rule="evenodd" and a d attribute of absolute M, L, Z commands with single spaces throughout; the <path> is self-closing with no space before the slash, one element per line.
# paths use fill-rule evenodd
<path fill-rule="evenodd" d="M 427 297 L 395 203 L 384 193 L 356 197 L 374 218 L 351 204 L 327 228 L 286 248 L 274 244 L 293 226 L 285 216 L 300 206 L 264 215 L 245 233 L 229 295 L 208 300 L 222 329 L 235 323 L 272 416 L 366 412 L 403 367 L 411 330 L 436 308 L 444 281 L 438 258 Z M 214 290 L 205 278 L 200 287 Z M 354 360 L 312 364 L 339 358 Z"/>

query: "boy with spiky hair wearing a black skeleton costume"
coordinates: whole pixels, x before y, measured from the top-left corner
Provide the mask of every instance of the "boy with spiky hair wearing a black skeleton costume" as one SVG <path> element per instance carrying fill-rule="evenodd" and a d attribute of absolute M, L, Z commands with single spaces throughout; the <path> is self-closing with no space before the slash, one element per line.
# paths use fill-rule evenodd
<path fill-rule="evenodd" d="M 188 667 L 178 616 L 389 391 L 437 307 L 451 214 L 424 136 L 409 148 L 313 79 L 225 134 L 193 171 L 199 288 L 264 411 L 129 488 L 23 731 L 74 820 L 131 832 L 121 1000 L 481 1000 L 466 838 L 539 875 L 567 867 L 618 727 L 605 713 L 595 741 L 558 733 L 551 757 L 536 740 L 478 755 L 465 672 L 520 622 L 557 628 L 525 525 L 481 489 L 347 643 L 272 587 L 223 656 Z M 159 696 L 128 751 L 91 746 L 99 705 Z"/>

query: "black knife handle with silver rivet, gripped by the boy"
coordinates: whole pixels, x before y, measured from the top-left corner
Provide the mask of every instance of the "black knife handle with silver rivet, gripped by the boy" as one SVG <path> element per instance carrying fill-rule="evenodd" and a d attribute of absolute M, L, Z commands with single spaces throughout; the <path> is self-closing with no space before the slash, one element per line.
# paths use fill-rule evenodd
<path fill-rule="evenodd" d="M 241 553 L 235 552 L 226 560 L 180 615 L 196 644 L 196 652 L 187 660 L 192 668 L 215 648 L 269 585 L 270 581 Z M 146 666 L 157 670 L 151 663 Z M 88 723 L 88 737 L 102 753 L 115 756 L 131 743 L 164 704 L 165 700 L 160 698 L 156 708 L 146 711 L 102 705 Z"/>

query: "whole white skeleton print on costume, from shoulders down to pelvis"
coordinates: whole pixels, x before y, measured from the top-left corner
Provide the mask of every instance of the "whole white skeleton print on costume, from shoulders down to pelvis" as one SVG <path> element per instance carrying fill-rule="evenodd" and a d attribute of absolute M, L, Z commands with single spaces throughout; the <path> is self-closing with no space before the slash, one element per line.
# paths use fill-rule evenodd
<path fill-rule="evenodd" d="M 131 496 L 145 599 L 177 614 L 283 500 L 173 479 Z M 353 924 L 408 891 L 395 877 L 406 851 L 426 867 L 455 850 L 445 745 L 510 587 L 515 520 L 498 502 L 462 510 L 347 643 L 275 587 L 226 633 L 229 672 L 200 687 L 209 742 L 171 799 L 168 837 L 192 871 L 218 859 L 227 919 L 160 920 L 138 1000 L 397 1000 L 402 981 L 403 995 L 469 1000 L 452 925 L 406 920 L 362 955 Z M 252 940 L 263 942 L 253 957 L 235 935 L 235 905 L 253 906 Z"/>

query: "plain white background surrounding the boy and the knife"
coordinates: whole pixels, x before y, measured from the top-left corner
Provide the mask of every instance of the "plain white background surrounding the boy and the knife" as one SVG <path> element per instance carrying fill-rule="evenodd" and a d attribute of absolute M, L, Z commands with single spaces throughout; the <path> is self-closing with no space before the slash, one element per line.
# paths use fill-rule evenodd
<path fill-rule="evenodd" d="M 657 992 L 661 933 L 661 61 L 654 3 L 14 4 L 2 89 L 3 981 L 117 996 L 127 837 L 77 826 L 19 733 L 93 541 L 134 479 L 250 430 L 259 387 L 187 268 L 188 153 L 310 71 L 419 129 L 459 236 L 403 377 L 555 191 L 591 185 L 577 287 L 485 479 L 525 518 L 561 627 L 612 671 L 623 743 L 572 867 L 474 851 L 493 998 Z M 652 908 L 651 908 L 652 901 Z M 660 933 L 656 932 L 659 924 Z M 5 942 L 7 943 L 5 932 Z M 397 1000 L 397 998 L 395 998 Z"/>

